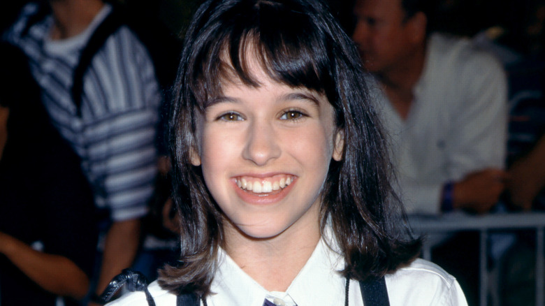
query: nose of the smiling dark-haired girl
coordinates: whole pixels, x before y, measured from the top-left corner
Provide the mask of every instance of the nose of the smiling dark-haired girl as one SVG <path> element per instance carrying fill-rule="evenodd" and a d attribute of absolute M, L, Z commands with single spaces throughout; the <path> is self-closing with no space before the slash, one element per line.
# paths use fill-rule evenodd
<path fill-rule="evenodd" d="M 271 124 L 254 122 L 250 124 L 242 157 L 258 166 L 265 166 L 268 161 L 277 159 L 281 149 L 279 137 Z"/>

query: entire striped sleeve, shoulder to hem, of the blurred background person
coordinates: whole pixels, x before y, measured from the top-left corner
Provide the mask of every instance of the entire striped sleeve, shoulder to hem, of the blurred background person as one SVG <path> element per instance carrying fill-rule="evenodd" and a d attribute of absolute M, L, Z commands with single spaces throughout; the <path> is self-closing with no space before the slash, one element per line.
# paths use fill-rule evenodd
<path fill-rule="evenodd" d="M 126 27 L 108 38 L 85 75 L 82 113 L 95 202 L 114 221 L 142 217 L 157 175 L 162 94 L 147 51 Z M 84 118 L 85 121 L 85 118 Z"/>

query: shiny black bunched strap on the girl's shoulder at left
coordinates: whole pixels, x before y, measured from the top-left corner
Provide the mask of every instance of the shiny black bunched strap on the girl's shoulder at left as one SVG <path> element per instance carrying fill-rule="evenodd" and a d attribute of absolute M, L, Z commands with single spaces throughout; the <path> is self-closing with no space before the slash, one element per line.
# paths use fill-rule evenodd
<path fill-rule="evenodd" d="M 108 284 L 106 290 L 99 297 L 99 302 L 102 304 L 108 303 L 112 296 L 126 285 L 126 289 L 129 291 L 144 291 L 146 295 L 147 305 L 155 306 L 155 301 L 153 300 L 152 294 L 147 290 L 147 279 L 146 277 L 137 271 L 131 269 L 124 269 L 121 274 L 117 275 L 112 279 L 112 282 Z"/>

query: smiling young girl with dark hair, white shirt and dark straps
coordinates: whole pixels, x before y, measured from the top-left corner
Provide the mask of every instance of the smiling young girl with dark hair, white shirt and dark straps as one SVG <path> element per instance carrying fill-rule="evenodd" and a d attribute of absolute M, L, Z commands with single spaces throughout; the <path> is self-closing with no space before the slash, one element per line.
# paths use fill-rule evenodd
<path fill-rule="evenodd" d="M 154 303 L 466 305 L 414 259 L 358 53 L 323 3 L 207 1 L 175 88 L 181 255 L 149 286 Z"/>

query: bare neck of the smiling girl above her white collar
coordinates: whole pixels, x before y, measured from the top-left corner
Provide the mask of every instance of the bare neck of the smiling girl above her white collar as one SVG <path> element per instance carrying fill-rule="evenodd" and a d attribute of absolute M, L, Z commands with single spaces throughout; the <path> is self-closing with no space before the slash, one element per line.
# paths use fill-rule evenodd
<path fill-rule="evenodd" d="M 249 238 L 231 226 L 225 233 L 227 254 L 268 291 L 286 291 L 320 240 L 318 224 L 288 228 L 267 239 Z"/>

